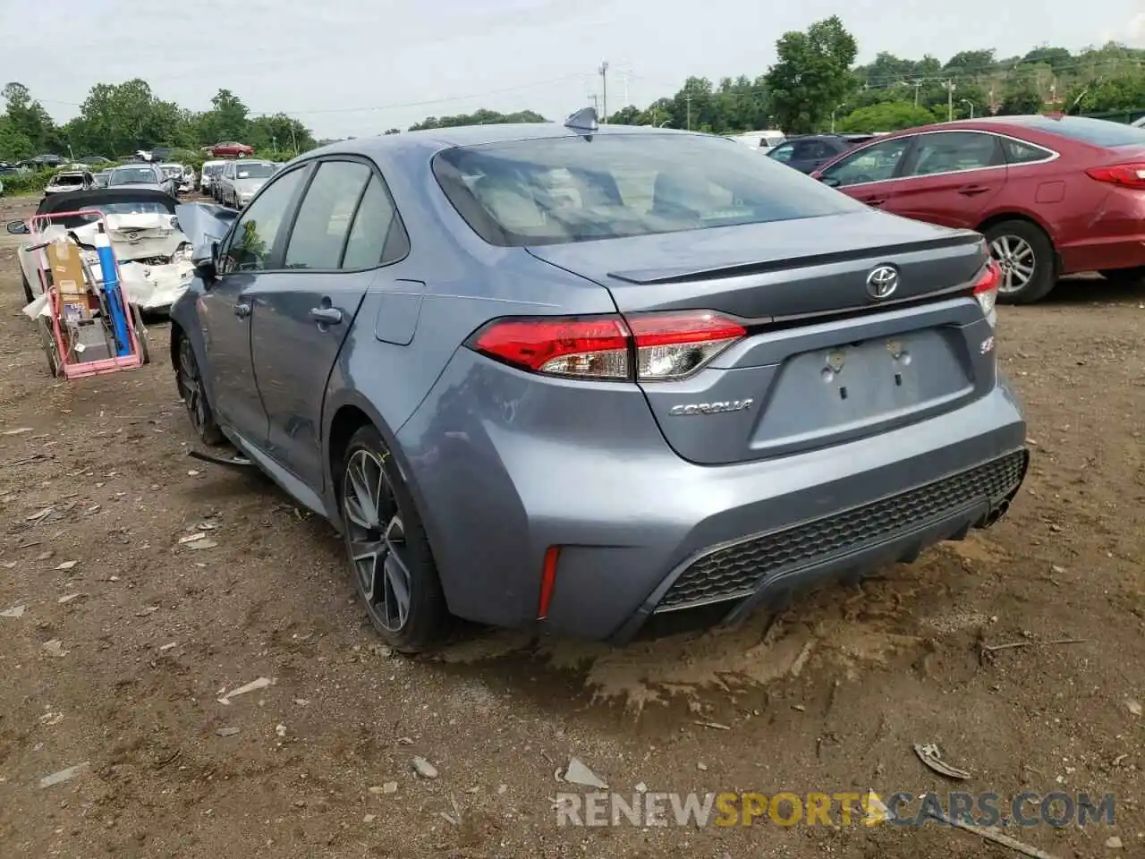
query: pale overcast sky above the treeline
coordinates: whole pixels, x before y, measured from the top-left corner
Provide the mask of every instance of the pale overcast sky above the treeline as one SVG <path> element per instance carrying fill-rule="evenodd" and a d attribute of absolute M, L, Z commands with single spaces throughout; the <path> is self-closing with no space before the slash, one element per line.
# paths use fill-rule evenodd
<path fill-rule="evenodd" d="M 96 82 L 143 78 L 202 110 L 220 88 L 254 112 L 297 116 L 318 136 L 404 128 L 429 115 L 531 108 L 563 117 L 674 93 L 689 74 L 755 77 L 775 39 L 838 14 L 877 52 L 946 61 L 993 47 L 1145 47 L 1145 0 L 0 0 L 0 81 L 60 120 Z M 1100 10 L 1100 14 L 1096 14 Z"/>

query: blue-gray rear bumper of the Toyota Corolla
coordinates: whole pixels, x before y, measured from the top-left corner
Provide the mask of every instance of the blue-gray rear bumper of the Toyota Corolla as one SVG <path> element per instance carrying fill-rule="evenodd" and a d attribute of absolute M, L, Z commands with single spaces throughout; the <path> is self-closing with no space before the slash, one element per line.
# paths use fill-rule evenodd
<path fill-rule="evenodd" d="M 634 633 L 701 560 L 769 535 L 788 539 L 755 567 L 737 562 L 747 572 L 733 591 L 712 594 L 729 610 L 795 580 L 909 558 L 984 522 L 1017 491 L 1026 462 L 1005 381 L 892 432 L 700 466 L 669 449 L 631 388 L 538 383 L 464 349 L 397 435 L 455 614 L 613 640 Z M 1012 479 L 989 465 L 1008 455 Z M 819 542 L 795 545 L 797 534 Z M 538 621 L 550 546 L 560 554 Z"/>

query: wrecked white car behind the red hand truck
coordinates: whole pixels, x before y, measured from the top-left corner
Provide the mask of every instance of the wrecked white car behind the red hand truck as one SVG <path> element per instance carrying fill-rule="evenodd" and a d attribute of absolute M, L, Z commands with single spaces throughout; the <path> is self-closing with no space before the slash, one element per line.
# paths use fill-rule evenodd
<path fill-rule="evenodd" d="M 176 204 L 163 191 L 108 188 L 46 197 L 31 221 L 13 221 L 8 231 L 33 236 L 19 246 L 16 255 L 24 275 L 24 313 L 47 313 L 40 268 L 46 242 L 70 237 L 79 246 L 93 273 L 98 275 L 95 236 L 100 221 L 94 215 L 69 215 L 78 211 L 101 212 L 127 300 L 142 310 L 166 310 L 183 294 L 195 273 L 194 247 L 219 241 L 230 227 L 235 213 L 202 203 Z M 50 220 L 45 220 L 47 215 Z M 58 215 L 58 216 L 57 216 Z"/>

